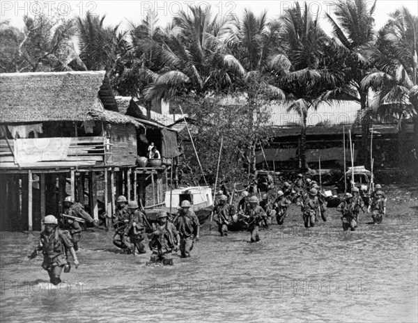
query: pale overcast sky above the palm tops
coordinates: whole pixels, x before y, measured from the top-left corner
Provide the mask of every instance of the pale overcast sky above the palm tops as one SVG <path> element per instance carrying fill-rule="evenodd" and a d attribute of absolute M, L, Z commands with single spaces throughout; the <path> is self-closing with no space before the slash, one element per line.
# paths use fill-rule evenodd
<path fill-rule="evenodd" d="M 372 6 L 373 1 L 367 1 Z M 58 13 L 65 17 L 84 16 L 88 10 L 97 15 L 106 15 L 105 24 L 116 25 L 121 23 L 121 29 L 129 29 L 129 22 L 139 24 L 148 10 L 158 13 L 159 24 L 164 26 L 180 10 L 187 10 L 187 4 L 210 6 L 214 14 L 220 16 L 238 15 L 242 17 L 245 8 L 259 14 L 263 10 L 268 11 L 270 18 L 278 17 L 286 8 L 294 6 L 294 1 L 0 1 L 1 21 L 8 19 L 10 24 L 22 28 L 24 15 L 36 15 L 43 11 L 51 14 L 54 6 Z M 302 3 L 302 1 L 300 1 Z M 308 10 L 320 16 L 332 12 L 332 0 L 307 1 Z M 413 15 L 418 15 L 417 0 L 378 0 L 376 5 L 376 27 L 380 28 L 387 21 L 387 15 L 396 8 L 405 6 Z M 327 24 L 321 22 L 327 29 Z"/>

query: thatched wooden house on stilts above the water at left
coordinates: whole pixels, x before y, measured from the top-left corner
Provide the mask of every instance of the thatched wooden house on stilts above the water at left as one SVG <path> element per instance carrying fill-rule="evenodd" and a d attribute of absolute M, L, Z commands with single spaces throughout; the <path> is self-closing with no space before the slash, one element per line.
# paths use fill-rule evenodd
<path fill-rule="evenodd" d="M 95 219 L 114 213 L 116 194 L 137 198 L 131 173 L 148 126 L 118 113 L 105 72 L 0 74 L 0 107 L 2 230 L 39 230 L 66 195 Z"/>

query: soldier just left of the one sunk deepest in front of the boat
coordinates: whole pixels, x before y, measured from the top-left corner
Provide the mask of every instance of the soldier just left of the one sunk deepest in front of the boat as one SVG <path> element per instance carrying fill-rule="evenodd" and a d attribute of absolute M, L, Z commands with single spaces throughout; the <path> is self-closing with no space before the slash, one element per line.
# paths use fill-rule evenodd
<path fill-rule="evenodd" d="M 130 244 L 127 246 L 129 250 L 127 253 L 135 254 L 138 251 L 139 254 L 146 253 L 144 246 L 145 239 L 145 226 L 148 224 L 145 214 L 138 210 L 137 201 L 130 201 L 127 203 L 127 209 L 129 211 L 130 220 L 124 231 L 124 235 L 129 237 Z"/>

